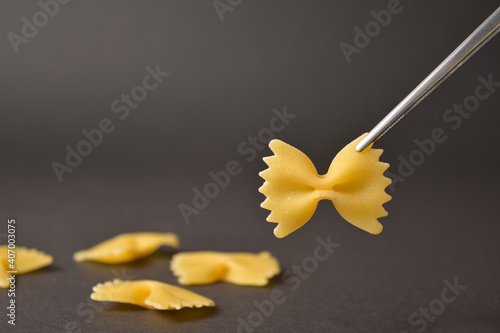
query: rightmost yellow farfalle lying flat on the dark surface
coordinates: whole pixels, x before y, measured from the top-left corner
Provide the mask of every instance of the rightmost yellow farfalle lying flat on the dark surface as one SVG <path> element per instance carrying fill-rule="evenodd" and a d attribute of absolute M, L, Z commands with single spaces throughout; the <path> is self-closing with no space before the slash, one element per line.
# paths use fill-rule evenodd
<path fill-rule="evenodd" d="M 180 284 L 226 281 L 264 286 L 280 272 L 278 260 L 267 251 L 255 253 L 181 252 L 172 257 L 170 269 Z"/>

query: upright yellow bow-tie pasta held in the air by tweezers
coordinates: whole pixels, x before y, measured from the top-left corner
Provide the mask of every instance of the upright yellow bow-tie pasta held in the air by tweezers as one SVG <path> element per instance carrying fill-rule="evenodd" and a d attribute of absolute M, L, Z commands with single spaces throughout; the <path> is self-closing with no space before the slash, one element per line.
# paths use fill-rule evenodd
<path fill-rule="evenodd" d="M 371 234 L 379 234 L 378 218 L 387 216 L 382 207 L 391 197 L 385 188 L 391 183 L 384 177 L 389 164 L 379 161 L 382 149 L 368 146 L 357 152 L 363 134 L 345 146 L 333 159 L 328 172 L 319 175 L 309 158 L 300 150 L 272 140 L 274 156 L 265 157 L 269 166 L 260 176 L 259 188 L 267 198 L 261 207 L 271 211 L 267 221 L 278 223 L 278 238 L 303 226 L 314 214 L 319 200 L 331 200 L 339 214 L 351 224 Z"/>

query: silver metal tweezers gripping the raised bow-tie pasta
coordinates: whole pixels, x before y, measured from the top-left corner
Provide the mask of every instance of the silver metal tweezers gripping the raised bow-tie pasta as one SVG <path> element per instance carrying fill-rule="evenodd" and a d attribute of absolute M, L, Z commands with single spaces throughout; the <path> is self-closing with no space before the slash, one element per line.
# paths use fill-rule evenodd
<path fill-rule="evenodd" d="M 453 74 L 482 46 L 500 31 L 500 7 L 495 10 L 455 51 L 432 71 L 413 91 L 375 126 L 356 146 L 363 151 L 372 142 L 380 139 L 404 116 L 415 108 L 424 98 L 434 91 L 444 80 Z"/>

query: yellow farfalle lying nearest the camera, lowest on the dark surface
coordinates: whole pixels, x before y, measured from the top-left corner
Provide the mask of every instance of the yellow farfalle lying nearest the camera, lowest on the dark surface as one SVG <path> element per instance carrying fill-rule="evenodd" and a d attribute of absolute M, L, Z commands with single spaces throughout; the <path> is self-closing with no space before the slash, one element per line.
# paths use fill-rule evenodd
<path fill-rule="evenodd" d="M 152 280 L 122 281 L 115 279 L 92 288 L 90 298 L 96 301 L 130 303 L 153 310 L 179 310 L 215 306 L 211 299 L 192 291 Z"/>

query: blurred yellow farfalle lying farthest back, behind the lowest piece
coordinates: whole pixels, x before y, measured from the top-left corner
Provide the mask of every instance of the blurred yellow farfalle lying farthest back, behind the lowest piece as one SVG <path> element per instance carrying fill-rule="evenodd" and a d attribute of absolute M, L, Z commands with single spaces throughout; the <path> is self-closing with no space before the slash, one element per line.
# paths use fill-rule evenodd
<path fill-rule="evenodd" d="M 97 261 L 106 264 L 119 264 L 146 257 L 160 246 L 179 246 L 179 239 L 171 232 L 136 232 L 121 234 L 108 239 L 87 250 L 73 255 L 75 261 Z"/>

